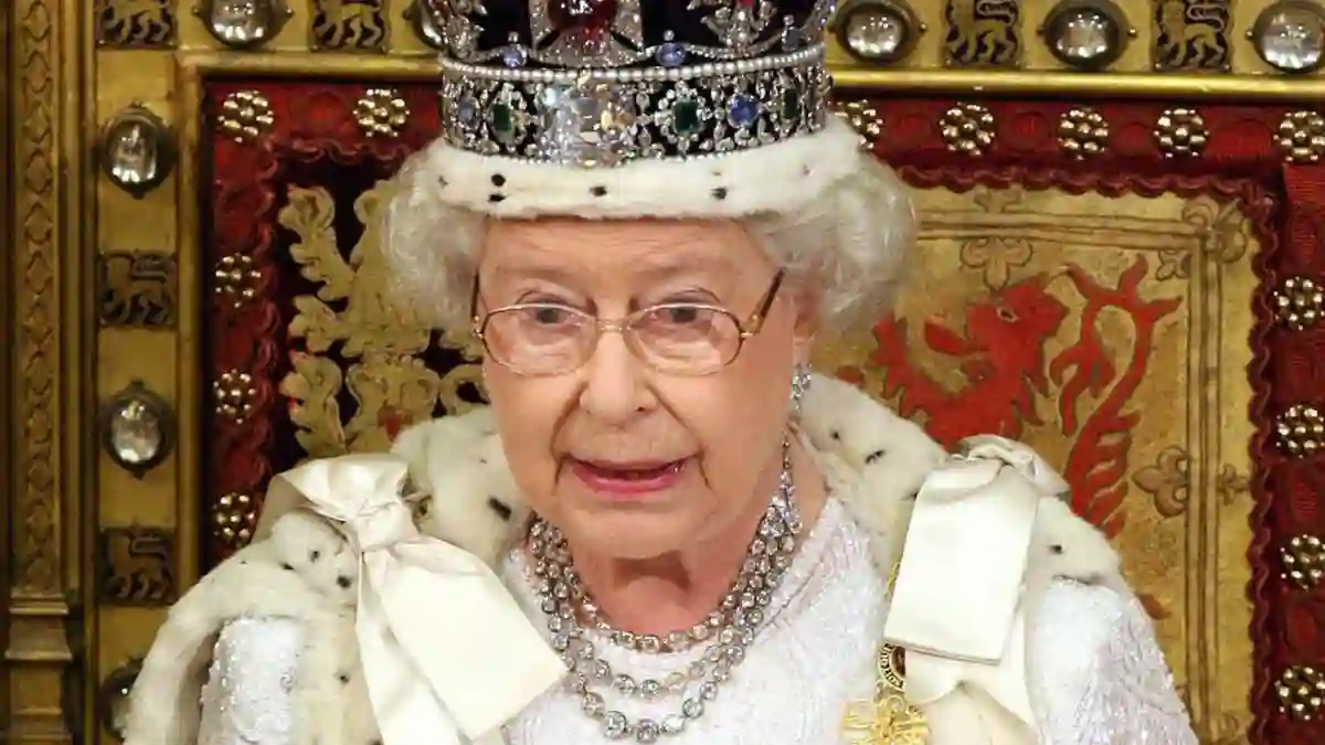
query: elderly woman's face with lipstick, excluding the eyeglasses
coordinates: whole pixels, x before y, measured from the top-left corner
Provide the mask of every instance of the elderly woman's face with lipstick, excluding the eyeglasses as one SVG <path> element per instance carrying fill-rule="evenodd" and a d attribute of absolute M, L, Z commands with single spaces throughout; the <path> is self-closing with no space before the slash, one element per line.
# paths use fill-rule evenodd
<path fill-rule="evenodd" d="M 525 302 L 620 319 L 704 302 L 745 322 L 776 268 L 730 221 L 494 221 L 480 312 Z M 783 284 L 761 331 L 709 375 L 660 372 L 620 333 L 584 365 L 530 376 L 484 363 L 517 484 L 576 554 L 647 559 L 753 525 L 776 485 L 792 365 L 814 314 Z M 753 516 L 753 520 L 751 520 Z"/>

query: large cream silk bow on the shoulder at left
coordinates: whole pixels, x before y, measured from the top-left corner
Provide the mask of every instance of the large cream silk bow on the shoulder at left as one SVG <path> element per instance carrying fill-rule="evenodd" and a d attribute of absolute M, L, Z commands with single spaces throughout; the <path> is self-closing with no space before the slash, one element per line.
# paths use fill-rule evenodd
<path fill-rule="evenodd" d="M 272 489 L 342 522 L 359 554 L 355 635 L 384 745 L 492 741 L 566 668 L 482 559 L 419 533 L 407 472 L 390 455 L 342 456 Z"/>

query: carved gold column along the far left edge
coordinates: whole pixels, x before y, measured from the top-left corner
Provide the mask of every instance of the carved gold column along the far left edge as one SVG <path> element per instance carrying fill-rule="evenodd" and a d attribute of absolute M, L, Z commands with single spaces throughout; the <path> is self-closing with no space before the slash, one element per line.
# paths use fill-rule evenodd
<path fill-rule="evenodd" d="M 11 452 L 5 737 L 70 742 L 64 708 L 73 648 L 70 614 L 81 599 L 85 475 L 83 418 L 90 410 L 83 318 L 82 32 L 86 0 L 7 3 L 12 142 L 8 223 L 12 298 L 8 420 Z M 77 632 L 80 636 L 81 632 Z"/>

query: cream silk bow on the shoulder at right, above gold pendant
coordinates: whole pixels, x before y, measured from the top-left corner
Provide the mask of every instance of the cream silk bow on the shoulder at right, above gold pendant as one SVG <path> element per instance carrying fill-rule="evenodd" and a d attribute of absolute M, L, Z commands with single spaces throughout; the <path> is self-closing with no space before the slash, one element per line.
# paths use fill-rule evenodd
<path fill-rule="evenodd" d="M 969 684 L 1034 726 L 1019 606 L 1039 501 L 1068 485 L 1024 445 L 966 444 L 916 497 L 884 638 L 906 650 L 914 705 Z"/>

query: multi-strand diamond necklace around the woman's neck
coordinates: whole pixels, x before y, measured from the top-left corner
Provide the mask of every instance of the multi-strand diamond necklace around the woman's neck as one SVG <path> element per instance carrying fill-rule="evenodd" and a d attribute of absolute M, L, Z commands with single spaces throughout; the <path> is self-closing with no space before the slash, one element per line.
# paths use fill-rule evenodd
<path fill-rule="evenodd" d="M 682 733 L 688 722 L 704 716 L 705 707 L 717 696 L 731 671 L 745 660 L 746 650 L 763 627 L 774 590 L 791 567 L 800 530 L 791 460 L 788 448 L 783 444 L 778 490 L 746 550 L 741 573 L 722 603 L 704 622 L 690 628 L 648 635 L 612 628 L 580 582 L 560 532 L 542 520 L 533 522 L 529 547 L 537 558 L 534 574 L 553 648 L 571 671 L 567 685 L 579 696 L 580 709 L 599 722 L 608 740 L 633 737 L 636 742 L 656 742 L 662 736 Z M 661 679 L 636 679 L 613 671 L 598 655 L 590 630 L 611 644 L 637 652 L 681 652 L 700 646 L 704 652 L 684 669 Z M 674 713 L 660 720 L 631 721 L 608 704 L 607 696 L 645 700 L 670 697 L 680 704 Z"/>

